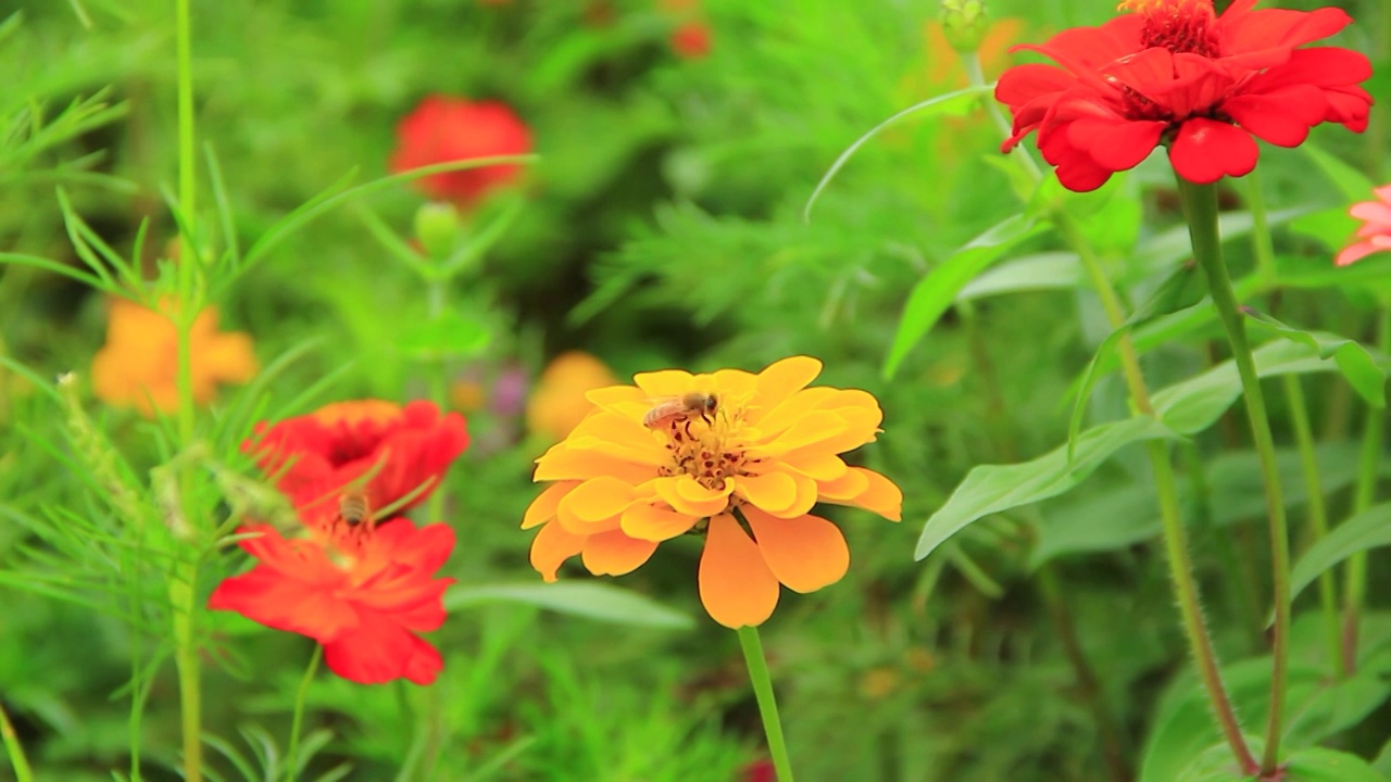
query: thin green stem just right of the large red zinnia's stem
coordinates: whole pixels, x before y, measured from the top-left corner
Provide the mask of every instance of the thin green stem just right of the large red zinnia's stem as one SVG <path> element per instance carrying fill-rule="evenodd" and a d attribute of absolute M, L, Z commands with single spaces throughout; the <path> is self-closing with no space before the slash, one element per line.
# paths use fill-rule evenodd
<path fill-rule="evenodd" d="M 1253 170 L 1246 177 L 1246 206 L 1251 209 L 1251 241 L 1256 256 L 1256 269 L 1260 270 L 1262 285 L 1274 285 L 1278 277 L 1276 271 L 1276 246 L 1270 238 L 1270 223 L 1266 217 L 1266 196 L 1260 188 L 1260 170 Z M 1314 452 L 1313 424 L 1309 422 L 1309 405 L 1305 401 L 1303 384 L 1298 376 L 1287 374 L 1283 378 L 1285 398 L 1289 402 L 1289 420 L 1295 429 L 1295 442 L 1299 448 L 1299 469 L 1303 473 L 1305 493 L 1309 495 L 1309 530 L 1313 533 L 1312 541 L 1317 543 L 1328 534 L 1328 511 L 1323 497 L 1323 479 L 1319 476 L 1319 456 Z M 1319 575 L 1319 604 L 1323 611 L 1324 635 L 1328 644 L 1328 665 L 1338 668 L 1341 657 L 1338 630 L 1338 598 L 1333 572 L 1324 570 Z"/>

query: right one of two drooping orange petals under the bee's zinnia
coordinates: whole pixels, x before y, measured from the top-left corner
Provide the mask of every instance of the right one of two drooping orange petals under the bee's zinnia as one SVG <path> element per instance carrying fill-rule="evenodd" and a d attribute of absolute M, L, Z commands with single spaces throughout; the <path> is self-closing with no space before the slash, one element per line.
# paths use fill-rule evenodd
<path fill-rule="evenodd" d="M 846 536 L 821 516 L 779 519 L 746 506 L 744 518 L 768 569 L 793 591 L 817 591 L 839 582 L 850 569 Z"/>

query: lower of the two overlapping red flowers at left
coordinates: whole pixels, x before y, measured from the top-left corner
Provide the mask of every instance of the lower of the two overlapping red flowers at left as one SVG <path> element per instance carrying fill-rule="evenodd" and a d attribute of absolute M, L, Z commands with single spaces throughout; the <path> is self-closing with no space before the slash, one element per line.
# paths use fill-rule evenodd
<path fill-rule="evenodd" d="M 416 633 L 444 623 L 441 596 L 453 579 L 433 576 L 453 551 L 452 529 L 395 519 L 313 540 L 285 538 L 270 525 L 238 532 L 260 533 L 241 541 L 259 562 L 218 584 L 209 608 L 317 640 L 344 679 L 434 682 L 444 661 Z"/>

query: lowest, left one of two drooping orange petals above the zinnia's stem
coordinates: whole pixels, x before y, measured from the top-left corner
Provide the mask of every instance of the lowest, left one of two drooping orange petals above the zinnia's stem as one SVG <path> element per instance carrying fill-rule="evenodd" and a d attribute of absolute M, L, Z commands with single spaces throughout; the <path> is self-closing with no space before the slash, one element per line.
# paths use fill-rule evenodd
<path fill-rule="evenodd" d="M 778 579 L 727 513 L 711 518 L 700 558 L 700 600 L 726 628 L 762 625 L 778 607 Z"/>

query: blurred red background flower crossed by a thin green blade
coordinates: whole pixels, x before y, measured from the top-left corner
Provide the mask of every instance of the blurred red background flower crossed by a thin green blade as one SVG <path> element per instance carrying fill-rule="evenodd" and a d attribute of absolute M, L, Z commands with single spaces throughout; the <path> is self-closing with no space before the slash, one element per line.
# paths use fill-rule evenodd
<path fill-rule="evenodd" d="M 389 168 L 401 173 L 437 163 L 529 152 L 531 131 L 506 104 L 431 95 L 396 125 L 396 149 Z M 520 166 L 484 166 L 431 174 L 415 182 L 430 198 L 463 209 L 510 182 L 520 171 Z"/>

